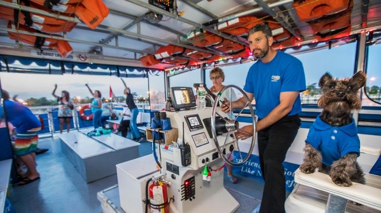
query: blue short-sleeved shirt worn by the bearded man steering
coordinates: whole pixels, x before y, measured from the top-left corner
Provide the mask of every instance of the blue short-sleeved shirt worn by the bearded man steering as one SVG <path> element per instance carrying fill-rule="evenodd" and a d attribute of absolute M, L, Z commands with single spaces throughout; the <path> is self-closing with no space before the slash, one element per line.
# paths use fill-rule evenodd
<path fill-rule="evenodd" d="M 281 92 L 306 90 L 302 62 L 282 51 L 277 51 L 268 63 L 258 60 L 250 67 L 244 90 L 254 94 L 255 114 L 262 119 L 279 105 Z M 302 105 L 298 96 L 287 115 L 295 115 L 301 111 Z"/>

